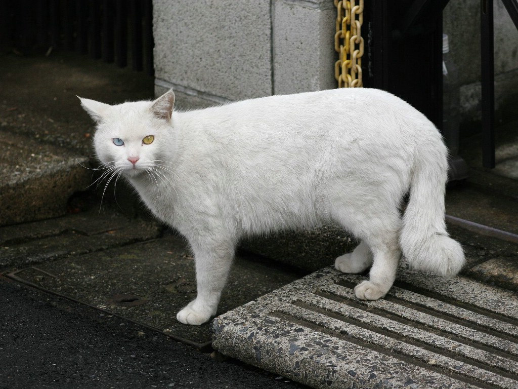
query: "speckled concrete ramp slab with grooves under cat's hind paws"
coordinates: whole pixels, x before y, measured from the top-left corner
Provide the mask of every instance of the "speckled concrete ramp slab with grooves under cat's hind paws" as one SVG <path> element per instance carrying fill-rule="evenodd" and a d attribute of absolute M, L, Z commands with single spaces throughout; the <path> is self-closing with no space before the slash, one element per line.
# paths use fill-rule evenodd
<path fill-rule="evenodd" d="M 363 279 L 325 268 L 218 316 L 213 348 L 315 388 L 518 387 L 515 293 L 400 269 L 365 302 Z"/>

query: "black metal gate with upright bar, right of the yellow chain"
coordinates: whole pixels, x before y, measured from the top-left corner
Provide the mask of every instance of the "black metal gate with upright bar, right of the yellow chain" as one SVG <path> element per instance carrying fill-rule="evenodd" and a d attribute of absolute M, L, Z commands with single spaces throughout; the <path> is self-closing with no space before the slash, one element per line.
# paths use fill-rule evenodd
<path fill-rule="evenodd" d="M 365 0 L 364 85 L 397 94 L 442 128 L 442 10 L 449 0 Z M 502 0 L 518 28 L 517 0 Z M 365 24 L 365 21 L 364 21 Z M 483 166 L 495 166 L 493 0 L 481 0 Z"/>

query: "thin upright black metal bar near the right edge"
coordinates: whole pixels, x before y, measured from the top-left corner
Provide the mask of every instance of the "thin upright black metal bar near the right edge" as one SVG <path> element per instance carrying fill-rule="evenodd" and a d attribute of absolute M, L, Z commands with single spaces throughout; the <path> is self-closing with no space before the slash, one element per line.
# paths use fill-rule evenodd
<path fill-rule="evenodd" d="M 493 0 L 481 0 L 482 165 L 495 167 Z"/>

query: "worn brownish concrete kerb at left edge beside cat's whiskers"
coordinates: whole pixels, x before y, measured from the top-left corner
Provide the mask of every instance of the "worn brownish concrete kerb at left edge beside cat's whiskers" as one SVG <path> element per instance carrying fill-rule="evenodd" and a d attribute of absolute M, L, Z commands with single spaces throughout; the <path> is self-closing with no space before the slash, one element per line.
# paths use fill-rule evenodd
<path fill-rule="evenodd" d="M 62 216 L 68 198 L 90 185 L 88 158 L 0 130 L 0 226 Z"/>

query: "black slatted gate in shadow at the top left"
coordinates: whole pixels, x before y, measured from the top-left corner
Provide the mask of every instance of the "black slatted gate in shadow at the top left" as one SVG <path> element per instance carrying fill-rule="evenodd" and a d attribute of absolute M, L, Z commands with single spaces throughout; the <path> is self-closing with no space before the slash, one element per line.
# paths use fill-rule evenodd
<path fill-rule="evenodd" d="M 152 0 L 0 0 L 0 43 L 75 50 L 153 74 Z"/>

